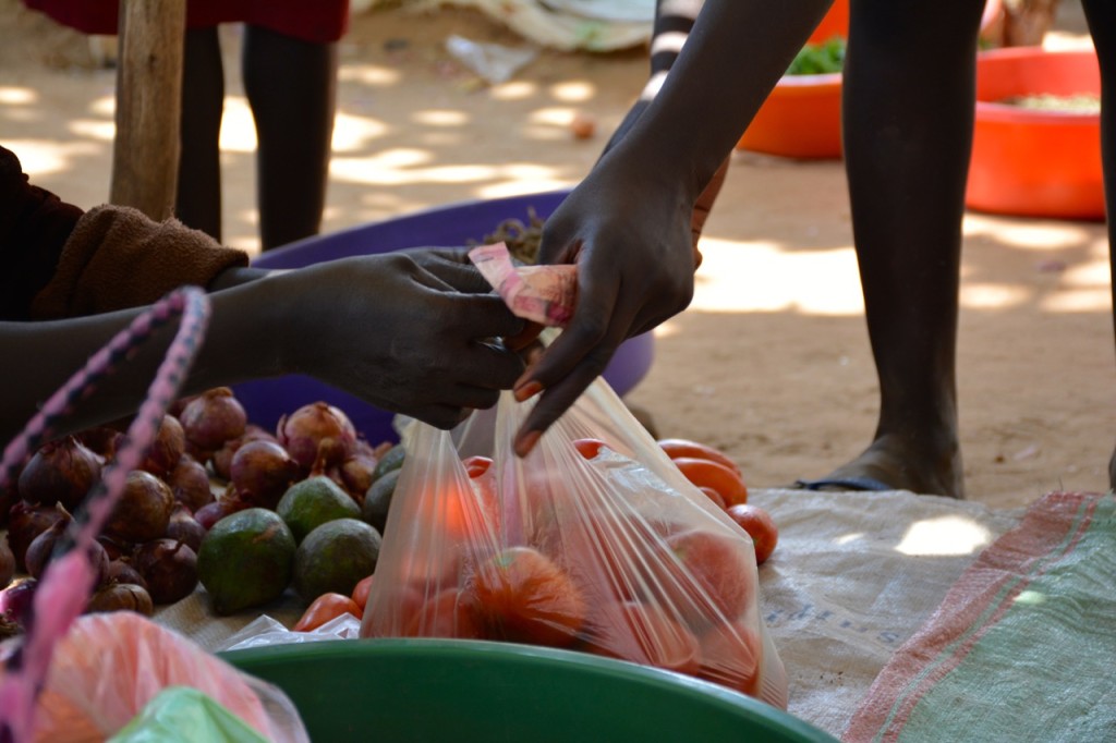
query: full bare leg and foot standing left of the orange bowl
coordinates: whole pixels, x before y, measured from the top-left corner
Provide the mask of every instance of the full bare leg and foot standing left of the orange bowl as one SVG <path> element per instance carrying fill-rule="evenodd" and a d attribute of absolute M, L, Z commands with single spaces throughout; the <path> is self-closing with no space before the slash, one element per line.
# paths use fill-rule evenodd
<path fill-rule="evenodd" d="M 852 7 L 843 136 L 881 411 L 830 477 L 964 496 L 955 345 L 981 4 Z"/>

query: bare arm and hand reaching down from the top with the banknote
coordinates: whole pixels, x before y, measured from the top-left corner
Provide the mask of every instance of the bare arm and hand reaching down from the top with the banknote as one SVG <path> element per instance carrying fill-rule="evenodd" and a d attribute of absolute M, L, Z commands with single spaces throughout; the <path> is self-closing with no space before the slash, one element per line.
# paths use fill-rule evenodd
<path fill-rule="evenodd" d="M 519 454 L 622 341 L 690 303 L 698 196 L 830 2 L 708 0 L 662 90 L 547 220 L 540 262 L 577 264 L 578 305 L 517 383 L 520 399 L 545 390 L 519 433 Z"/>

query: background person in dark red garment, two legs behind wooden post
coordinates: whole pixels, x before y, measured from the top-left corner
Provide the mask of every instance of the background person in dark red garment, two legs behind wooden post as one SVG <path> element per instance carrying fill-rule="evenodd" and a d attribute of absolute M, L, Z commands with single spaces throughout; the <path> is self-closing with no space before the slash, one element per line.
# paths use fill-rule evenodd
<path fill-rule="evenodd" d="M 116 0 L 23 0 L 90 35 L 118 30 Z M 243 23 L 241 75 L 256 122 L 263 250 L 317 234 L 326 200 L 337 89 L 337 41 L 348 0 L 190 0 L 183 49 L 182 149 L 175 216 L 221 240 L 219 27 Z"/>

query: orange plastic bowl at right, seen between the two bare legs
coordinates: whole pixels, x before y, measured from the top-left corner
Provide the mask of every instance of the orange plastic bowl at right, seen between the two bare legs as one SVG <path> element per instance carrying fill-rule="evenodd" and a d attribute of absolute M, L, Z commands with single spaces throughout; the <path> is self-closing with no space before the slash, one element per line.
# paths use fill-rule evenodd
<path fill-rule="evenodd" d="M 997 214 L 1103 220 L 1100 115 L 998 103 L 1012 96 L 1083 93 L 1100 93 L 1091 49 L 982 51 L 965 205 Z"/>

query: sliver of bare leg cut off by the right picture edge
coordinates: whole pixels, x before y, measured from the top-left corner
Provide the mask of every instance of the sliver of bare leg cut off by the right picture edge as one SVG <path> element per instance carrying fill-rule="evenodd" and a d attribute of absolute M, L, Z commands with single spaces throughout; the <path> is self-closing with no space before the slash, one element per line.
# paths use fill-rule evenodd
<path fill-rule="evenodd" d="M 1083 0 L 1093 46 L 1100 61 L 1100 158 L 1108 212 L 1108 264 L 1112 272 L 1113 327 L 1116 330 L 1116 6 Z M 1116 452 L 1108 461 L 1108 486 L 1116 490 Z"/>

